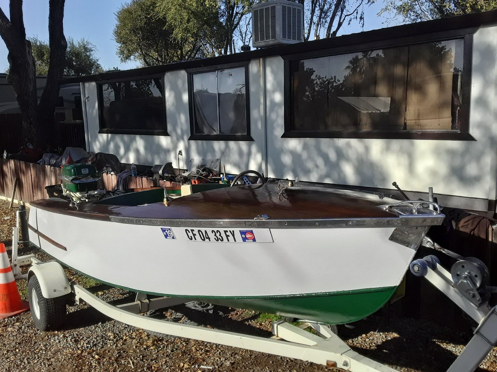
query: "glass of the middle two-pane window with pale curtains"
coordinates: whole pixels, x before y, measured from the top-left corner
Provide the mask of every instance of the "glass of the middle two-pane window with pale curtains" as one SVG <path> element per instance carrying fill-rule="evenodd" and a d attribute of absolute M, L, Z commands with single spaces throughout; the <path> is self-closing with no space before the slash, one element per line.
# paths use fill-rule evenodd
<path fill-rule="evenodd" d="M 192 134 L 247 134 L 245 88 L 245 67 L 193 74 Z"/>

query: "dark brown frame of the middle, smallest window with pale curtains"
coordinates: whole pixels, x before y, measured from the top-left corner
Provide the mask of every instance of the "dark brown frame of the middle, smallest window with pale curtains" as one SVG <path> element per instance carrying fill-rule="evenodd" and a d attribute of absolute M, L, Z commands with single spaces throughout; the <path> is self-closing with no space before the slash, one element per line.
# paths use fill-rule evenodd
<path fill-rule="evenodd" d="M 199 141 L 253 141 L 250 135 L 250 84 L 249 84 L 250 61 L 225 63 L 205 67 L 186 69 L 188 75 L 188 112 L 190 116 L 190 136 L 188 140 Z M 213 72 L 229 68 L 245 68 L 245 105 L 246 105 L 246 134 L 195 134 L 195 105 L 193 102 L 193 75 L 198 73 Z M 218 118 L 219 120 L 219 118 Z"/>

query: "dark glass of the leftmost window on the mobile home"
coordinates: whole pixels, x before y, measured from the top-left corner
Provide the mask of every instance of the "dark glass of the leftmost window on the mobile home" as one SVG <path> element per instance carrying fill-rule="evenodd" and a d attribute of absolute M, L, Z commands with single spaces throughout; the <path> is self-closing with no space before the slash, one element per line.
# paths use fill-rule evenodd
<path fill-rule="evenodd" d="M 160 77 L 108 82 L 98 89 L 101 129 L 166 130 Z"/>

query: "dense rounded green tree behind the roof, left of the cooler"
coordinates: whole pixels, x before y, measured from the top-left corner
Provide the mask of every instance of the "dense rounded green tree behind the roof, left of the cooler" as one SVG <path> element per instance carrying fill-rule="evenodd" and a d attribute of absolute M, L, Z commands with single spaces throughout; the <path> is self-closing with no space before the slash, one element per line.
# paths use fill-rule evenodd
<path fill-rule="evenodd" d="M 185 7 L 190 2 L 193 1 L 185 1 Z M 182 28 L 172 27 L 164 3 L 133 0 L 116 13 L 114 39 L 121 62 L 135 60 L 153 66 L 202 57 L 199 37 L 192 32 L 196 24 L 189 24 L 189 20 L 183 18 L 176 20 Z"/>

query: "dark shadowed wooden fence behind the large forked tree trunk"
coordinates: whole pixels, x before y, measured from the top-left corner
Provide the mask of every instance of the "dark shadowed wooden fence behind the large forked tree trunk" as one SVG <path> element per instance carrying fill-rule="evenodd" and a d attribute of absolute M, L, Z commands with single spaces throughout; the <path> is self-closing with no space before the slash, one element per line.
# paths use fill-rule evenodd
<path fill-rule="evenodd" d="M 55 113 L 55 122 L 50 128 L 50 132 L 53 133 L 51 145 L 55 151 L 61 154 L 68 146 L 86 150 L 83 122 L 64 122 L 65 119 L 64 113 Z M 0 114 L 0 152 L 3 150 L 9 153 L 17 152 L 24 145 L 21 115 Z"/>

